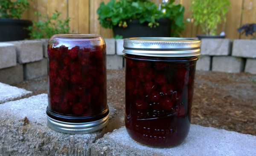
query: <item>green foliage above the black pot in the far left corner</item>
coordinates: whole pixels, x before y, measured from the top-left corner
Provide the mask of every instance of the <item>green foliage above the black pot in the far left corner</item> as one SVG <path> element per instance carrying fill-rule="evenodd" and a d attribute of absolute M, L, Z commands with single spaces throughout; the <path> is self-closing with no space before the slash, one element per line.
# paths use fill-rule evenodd
<path fill-rule="evenodd" d="M 0 18 L 17 18 L 20 19 L 21 14 L 29 9 L 28 0 L 0 0 Z"/>

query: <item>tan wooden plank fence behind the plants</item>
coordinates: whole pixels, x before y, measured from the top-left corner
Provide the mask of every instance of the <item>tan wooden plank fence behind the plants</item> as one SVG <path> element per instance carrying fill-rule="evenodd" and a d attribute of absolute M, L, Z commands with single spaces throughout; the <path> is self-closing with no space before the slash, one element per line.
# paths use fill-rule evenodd
<path fill-rule="evenodd" d="M 30 9 L 22 14 L 22 19 L 38 21 L 44 18 L 35 16 L 39 12 L 44 16 L 51 16 L 55 10 L 61 12 L 61 18 L 70 17 L 70 28 L 74 33 L 100 34 L 104 38 L 112 38 L 113 33 L 110 29 L 103 29 L 96 13 L 101 2 L 108 3 L 110 0 L 31 0 Z M 151 0 L 158 6 L 162 0 Z M 182 4 L 186 11 L 184 20 L 190 17 L 191 0 L 175 0 L 175 3 Z M 245 35 L 237 32 L 237 29 L 246 23 L 256 23 L 256 0 L 230 0 L 231 9 L 227 13 L 227 22 L 218 26 L 218 33 L 224 31 L 227 38 L 246 39 Z M 193 19 L 186 24 L 186 29 L 182 32 L 183 37 L 195 37 L 201 34 L 200 26 L 195 26 Z"/>

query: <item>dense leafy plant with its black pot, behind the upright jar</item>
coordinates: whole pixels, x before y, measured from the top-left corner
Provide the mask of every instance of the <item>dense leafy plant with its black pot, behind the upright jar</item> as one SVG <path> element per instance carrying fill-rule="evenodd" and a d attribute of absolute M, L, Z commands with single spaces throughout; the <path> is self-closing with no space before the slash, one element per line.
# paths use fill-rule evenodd
<path fill-rule="evenodd" d="M 131 37 L 179 37 L 184 29 L 184 7 L 165 4 L 165 12 L 149 0 L 110 0 L 100 4 L 97 14 L 103 28 L 113 29 L 114 35 Z"/>

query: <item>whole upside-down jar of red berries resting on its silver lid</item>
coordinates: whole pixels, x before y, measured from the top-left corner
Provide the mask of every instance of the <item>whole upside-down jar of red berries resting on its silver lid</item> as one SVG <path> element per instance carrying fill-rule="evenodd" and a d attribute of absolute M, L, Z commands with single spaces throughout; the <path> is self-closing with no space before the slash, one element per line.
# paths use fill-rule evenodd
<path fill-rule="evenodd" d="M 53 35 L 48 43 L 49 127 L 91 133 L 108 124 L 106 44 L 100 35 Z"/>

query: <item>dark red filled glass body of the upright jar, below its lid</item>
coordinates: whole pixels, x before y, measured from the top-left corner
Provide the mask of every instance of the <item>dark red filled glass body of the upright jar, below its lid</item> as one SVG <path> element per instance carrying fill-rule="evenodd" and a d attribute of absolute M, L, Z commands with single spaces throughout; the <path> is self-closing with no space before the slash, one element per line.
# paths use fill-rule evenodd
<path fill-rule="evenodd" d="M 183 142 L 189 132 L 197 59 L 124 57 L 125 126 L 129 136 L 153 147 Z"/>

